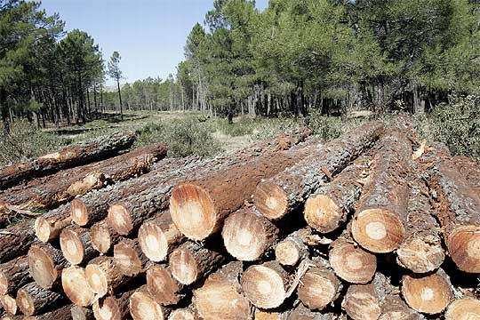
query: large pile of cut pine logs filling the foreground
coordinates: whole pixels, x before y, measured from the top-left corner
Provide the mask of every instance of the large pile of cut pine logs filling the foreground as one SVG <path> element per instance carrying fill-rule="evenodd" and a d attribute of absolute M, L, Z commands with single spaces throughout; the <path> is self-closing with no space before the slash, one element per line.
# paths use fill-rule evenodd
<path fill-rule="evenodd" d="M 480 169 L 405 121 L 127 173 L 165 151 L 65 169 L 124 178 L 0 231 L 2 319 L 480 319 Z"/>

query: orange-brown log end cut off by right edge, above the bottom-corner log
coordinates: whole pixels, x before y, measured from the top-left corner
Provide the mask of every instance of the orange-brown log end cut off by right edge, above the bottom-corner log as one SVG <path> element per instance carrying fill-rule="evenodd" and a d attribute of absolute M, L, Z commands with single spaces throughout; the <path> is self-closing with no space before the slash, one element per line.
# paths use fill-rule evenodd
<path fill-rule="evenodd" d="M 480 227 L 455 228 L 446 239 L 446 245 L 460 270 L 480 273 Z"/>

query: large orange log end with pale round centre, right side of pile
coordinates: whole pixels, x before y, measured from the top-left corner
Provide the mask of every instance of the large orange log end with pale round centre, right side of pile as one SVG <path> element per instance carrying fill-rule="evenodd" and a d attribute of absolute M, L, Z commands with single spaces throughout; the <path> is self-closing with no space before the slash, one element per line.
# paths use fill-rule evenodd
<path fill-rule="evenodd" d="M 352 236 L 366 250 L 393 252 L 404 240 L 404 224 L 395 214 L 384 209 L 359 212 L 352 222 Z"/>

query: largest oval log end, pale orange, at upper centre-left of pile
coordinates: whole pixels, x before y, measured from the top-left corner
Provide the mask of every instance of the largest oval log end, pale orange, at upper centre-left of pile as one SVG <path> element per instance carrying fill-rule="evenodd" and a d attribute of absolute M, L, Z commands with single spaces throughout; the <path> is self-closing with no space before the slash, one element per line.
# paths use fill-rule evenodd
<path fill-rule="evenodd" d="M 192 183 L 175 187 L 170 214 L 180 232 L 193 240 L 204 240 L 217 227 L 217 212 L 208 192 Z"/>

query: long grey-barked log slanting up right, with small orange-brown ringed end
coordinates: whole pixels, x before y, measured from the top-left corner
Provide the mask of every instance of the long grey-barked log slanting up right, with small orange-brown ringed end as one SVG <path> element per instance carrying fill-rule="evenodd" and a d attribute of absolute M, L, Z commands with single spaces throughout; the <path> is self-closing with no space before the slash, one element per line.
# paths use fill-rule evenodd
<path fill-rule="evenodd" d="M 326 143 L 314 155 L 262 181 L 253 195 L 255 206 L 270 220 L 284 217 L 370 148 L 382 130 L 380 122 L 364 124 L 345 138 Z"/>

